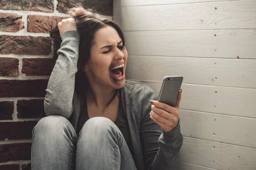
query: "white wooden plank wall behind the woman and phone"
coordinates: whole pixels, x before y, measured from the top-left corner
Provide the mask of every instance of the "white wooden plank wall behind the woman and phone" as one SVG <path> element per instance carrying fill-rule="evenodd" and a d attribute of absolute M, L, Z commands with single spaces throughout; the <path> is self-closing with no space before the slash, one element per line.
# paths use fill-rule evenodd
<path fill-rule="evenodd" d="M 114 0 L 128 79 L 182 75 L 179 170 L 256 170 L 256 0 Z"/>

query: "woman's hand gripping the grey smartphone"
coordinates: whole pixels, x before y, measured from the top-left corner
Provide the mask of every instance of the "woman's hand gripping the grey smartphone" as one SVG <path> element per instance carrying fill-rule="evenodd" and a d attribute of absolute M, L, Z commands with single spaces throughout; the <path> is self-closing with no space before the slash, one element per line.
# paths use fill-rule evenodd
<path fill-rule="evenodd" d="M 161 126 L 163 131 L 165 132 L 174 129 L 178 125 L 181 92 L 182 90 L 180 90 L 179 92 L 175 107 L 166 105 L 165 103 L 161 103 L 155 100 L 150 101 L 152 104 L 150 118 L 154 120 L 154 122 L 156 122 L 159 126 Z"/>

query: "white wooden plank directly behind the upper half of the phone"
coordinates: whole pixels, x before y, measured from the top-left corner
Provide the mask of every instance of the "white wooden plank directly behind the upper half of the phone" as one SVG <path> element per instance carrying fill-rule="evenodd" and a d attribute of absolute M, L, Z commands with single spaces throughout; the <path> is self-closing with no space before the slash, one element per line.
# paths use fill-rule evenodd
<path fill-rule="evenodd" d="M 162 82 L 136 80 L 159 94 Z M 183 84 L 180 109 L 256 118 L 256 89 Z"/>

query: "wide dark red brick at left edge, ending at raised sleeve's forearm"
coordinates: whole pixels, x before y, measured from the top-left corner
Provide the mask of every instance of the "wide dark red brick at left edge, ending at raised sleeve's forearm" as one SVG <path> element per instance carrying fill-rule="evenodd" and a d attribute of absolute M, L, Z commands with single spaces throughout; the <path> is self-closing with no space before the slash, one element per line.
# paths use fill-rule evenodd
<path fill-rule="evenodd" d="M 48 79 L 0 79 L 0 97 L 44 97 Z"/>

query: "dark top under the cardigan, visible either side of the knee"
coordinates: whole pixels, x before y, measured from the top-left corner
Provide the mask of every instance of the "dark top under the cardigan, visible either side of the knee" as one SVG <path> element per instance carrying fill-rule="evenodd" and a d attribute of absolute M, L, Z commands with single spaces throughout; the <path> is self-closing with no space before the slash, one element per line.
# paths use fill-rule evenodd
<path fill-rule="evenodd" d="M 86 100 L 84 99 L 84 101 L 86 101 Z M 78 119 L 77 127 L 76 127 L 77 134 L 79 134 L 81 128 L 84 126 L 84 123 L 87 120 L 89 120 L 89 115 L 88 115 L 88 111 L 87 111 L 87 104 L 86 104 L 86 102 L 84 102 L 81 114 Z M 119 105 L 118 105 L 118 113 L 117 113 L 116 121 L 114 123 L 119 128 L 122 135 L 124 136 L 125 142 L 128 145 L 131 155 L 134 157 L 133 152 L 132 152 L 131 136 L 130 136 L 130 132 L 129 132 L 127 117 L 126 117 L 124 108 L 122 106 L 122 101 L 120 99 L 119 99 Z"/>

